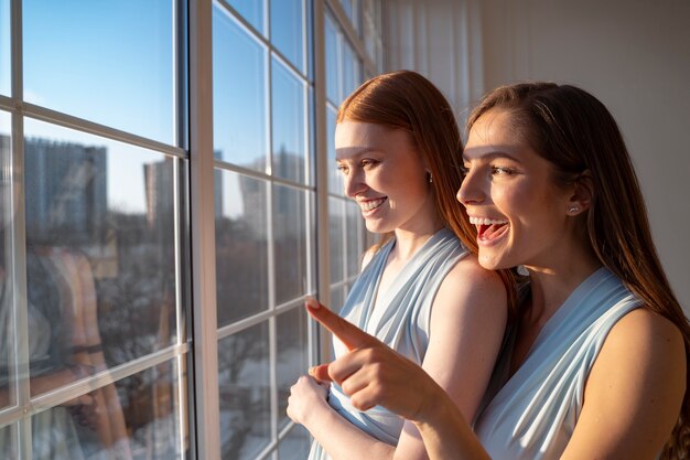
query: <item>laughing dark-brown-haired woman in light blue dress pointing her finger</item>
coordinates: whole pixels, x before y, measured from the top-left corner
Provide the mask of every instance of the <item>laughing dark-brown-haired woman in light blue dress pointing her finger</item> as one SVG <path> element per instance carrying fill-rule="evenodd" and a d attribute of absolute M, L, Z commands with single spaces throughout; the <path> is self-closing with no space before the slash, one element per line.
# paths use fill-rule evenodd
<path fill-rule="evenodd" d="M 608 110 L 573 86 L 518 84 L 467 128 L 457 199 L 479 263 L 530 274 L 473 426 L 418 366 L 311 302 L 351 350 L 313 374 L 403 416 L 432 459 L 688 458 L 690 327 Z"/>

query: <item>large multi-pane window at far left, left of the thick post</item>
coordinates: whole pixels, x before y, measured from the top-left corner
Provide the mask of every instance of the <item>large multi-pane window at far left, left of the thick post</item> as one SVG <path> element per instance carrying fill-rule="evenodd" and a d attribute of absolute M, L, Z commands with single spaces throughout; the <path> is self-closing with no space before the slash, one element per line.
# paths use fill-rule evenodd
<path fill-rule="evenodd" d="M 0 458 L 190 457 L 177 13 L 1 3 Z"/>

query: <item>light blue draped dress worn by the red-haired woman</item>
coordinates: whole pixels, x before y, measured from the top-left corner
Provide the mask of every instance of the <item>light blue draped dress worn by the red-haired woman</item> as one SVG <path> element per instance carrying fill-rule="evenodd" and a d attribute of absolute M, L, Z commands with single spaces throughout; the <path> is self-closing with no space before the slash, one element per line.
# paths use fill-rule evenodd
<path fill-rule="evenodd" d="M 433 299 L 446 274 L 467 254 L 467 250 L 451 231 L 436 232 L 412 256 L 387 291 L 378 292 L 377 299 L 381 275 L 395 240 L 384 245 L 364 268 L 345 300 L 341 315 L 421 364 L 429 345 Z M 346 349 L 337 339 L 333 345 L 336 356 L 346 353 Z M 341 416 L 363 431 L 384 442 L 397 445 L 405 420 L 396 414 L 380 406 L 362 413 L 349 404 L 349 397 L 344 395 L 337 385 L 332 385 L 328 403 Z M 314 441 L 309 459 L 330 458 Z"/>

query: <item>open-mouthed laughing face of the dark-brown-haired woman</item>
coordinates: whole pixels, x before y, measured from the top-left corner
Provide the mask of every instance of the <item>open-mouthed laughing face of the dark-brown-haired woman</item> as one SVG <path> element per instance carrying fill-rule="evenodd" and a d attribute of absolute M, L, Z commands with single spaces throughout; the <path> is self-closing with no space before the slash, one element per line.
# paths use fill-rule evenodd
<path fill-rule="evenodd" d="M 552 164 L 516 136 L 508 111 L 474 122 L 463 161 L 457 200 L 477 227 L 483 267 L 548 270 L 576 254 L 573 190 L 557 186 Z"/>

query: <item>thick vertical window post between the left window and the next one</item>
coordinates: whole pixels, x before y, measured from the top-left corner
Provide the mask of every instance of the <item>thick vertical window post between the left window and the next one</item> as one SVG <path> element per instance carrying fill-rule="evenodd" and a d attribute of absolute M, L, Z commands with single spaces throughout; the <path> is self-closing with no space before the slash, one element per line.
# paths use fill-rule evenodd
<path fill-rule="evenodd" d="M 220 459 L 213 151 L 212 2 L 190 0 L 190 211 L 196 456 Z"/>

